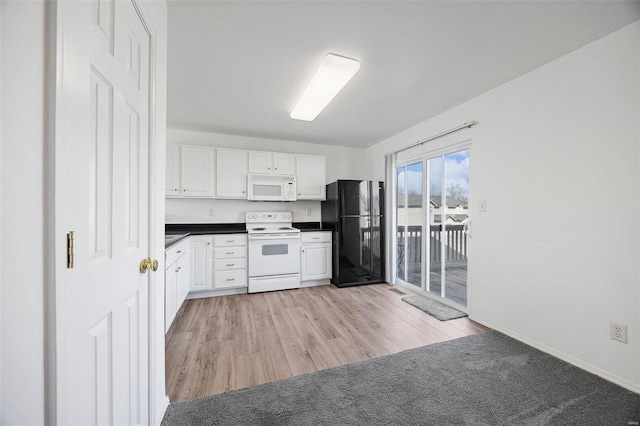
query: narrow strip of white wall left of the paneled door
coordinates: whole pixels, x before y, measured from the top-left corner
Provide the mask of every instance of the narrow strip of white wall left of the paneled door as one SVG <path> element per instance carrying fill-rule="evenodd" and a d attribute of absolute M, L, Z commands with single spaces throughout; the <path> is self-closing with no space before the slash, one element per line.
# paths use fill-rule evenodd
<path fill-rule="evenodd" d="M 0 424 L 44 424 L 44 2 L 3 1 Z"/>

